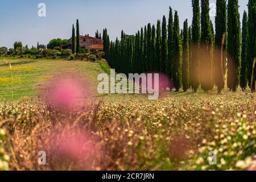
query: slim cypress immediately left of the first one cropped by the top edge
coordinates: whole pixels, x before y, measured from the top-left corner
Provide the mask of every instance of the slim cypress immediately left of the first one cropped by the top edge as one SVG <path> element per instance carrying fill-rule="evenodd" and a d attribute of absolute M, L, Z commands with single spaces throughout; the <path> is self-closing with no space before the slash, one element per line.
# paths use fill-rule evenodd
<path fill-rule="evenodd" d="M 189 34 L 188 34 L 188 19 L 185 20 L 183 26 L 183 59 L 182 59 L 182 85 L 186 92 L 189 88 Z"/>

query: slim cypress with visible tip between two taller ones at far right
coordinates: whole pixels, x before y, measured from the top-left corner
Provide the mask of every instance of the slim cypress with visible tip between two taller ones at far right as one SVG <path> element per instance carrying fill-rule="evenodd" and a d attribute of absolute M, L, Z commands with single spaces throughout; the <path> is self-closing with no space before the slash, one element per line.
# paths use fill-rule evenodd
<path fill-rule="evenodd" d="M 243 91 L 245 91 L 247 87 L 247 36 L 248 36 L 248 29 L 247 29 L 247 13 L 246 11 L 243 12 L 243 22 L 242 22 L 242 53 L 241 53 L 241 75 L 240 75 L 240 87 Z"/>

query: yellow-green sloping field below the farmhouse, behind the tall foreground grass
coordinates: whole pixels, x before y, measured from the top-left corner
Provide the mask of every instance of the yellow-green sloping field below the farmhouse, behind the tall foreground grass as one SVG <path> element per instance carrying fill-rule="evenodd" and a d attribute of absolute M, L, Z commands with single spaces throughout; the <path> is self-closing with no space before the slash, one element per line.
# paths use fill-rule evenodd
<path fill-rule="evenodd" d="M 11 63 L 12 67 L 6 63 Z M 97 75 L 103 73 L 100 64 L 89 61 L 67 60 L 0 60 L 0 100 L 14 100 L 35 97 L 40 85 L 57 75 L 77 75 L 97 83 Z M 11 71 L 12 70 L 12 71 Z M 13 74 L 13 79 L 11 77 Z M 12 83 L 13 80 L 13 83 Z M 92 85 L 89 85 L 93 88 Z M 96 88 L 97 89 L 97 88 Z"/>

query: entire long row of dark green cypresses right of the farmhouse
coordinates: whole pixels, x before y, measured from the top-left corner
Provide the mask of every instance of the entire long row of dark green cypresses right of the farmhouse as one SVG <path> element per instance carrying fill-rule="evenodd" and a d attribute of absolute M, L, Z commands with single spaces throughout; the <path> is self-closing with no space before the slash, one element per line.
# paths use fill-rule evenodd
<path fill-rule="evenodd" d="M 104 29 L 104 51 L 110 67 L 119 73 L 158 72 L 171 81 L 171 89 L 184 91 L 199 86 L 207 92 L 216 85 L 218 92 L 225 86 L 228 68 L 228 88 L 245 90 L 251 82 L 255 42 L 256 0 L 249 0 L 249 12 L 243 14 L 242 38 L 238 0 L 216 1 L 215 32 L 209 16 L 209 0 L 192 0 L 193 19 L 179 27 L 177 11 L 170 7 L 168 22 L 163 16 L 155 25 L 147 24 L 135 35 L 121 33 L 121 40 L 109 42 Z M 228 62 L 226 60 L 228 59 Z M 255 88 L 255 75 L 252 80 Z M 250 84 L 249 84 L 250 86 Z M 252 90 L 254 90 L 252 88 Z"/>

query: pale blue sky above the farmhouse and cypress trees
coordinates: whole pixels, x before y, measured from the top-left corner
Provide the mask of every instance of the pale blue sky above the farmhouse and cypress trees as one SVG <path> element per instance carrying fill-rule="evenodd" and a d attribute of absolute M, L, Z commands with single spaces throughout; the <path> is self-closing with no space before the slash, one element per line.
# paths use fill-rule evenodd
<path fill-rule="evenodd" d="M 46 4 L 46 17 L 38 16 L 39 3 Z M 248 0 L 239 3 L 242 16 Z M 106 27 L 114 40 L 121 30 L 135 34 L 145 24 L 156 24 L 163 15 L 168 17 L 168 6 L 178 11 L 181 28 L 186 18 L 191 23 L 191 0 L 1 0 L 0 47 L 13 47 L 18 40 L 31 47 L 37 42 L 47 44 L 53 38 L 68 39 L 77 18 L 80 34 L 94 36 L 97 29 Z"/>

